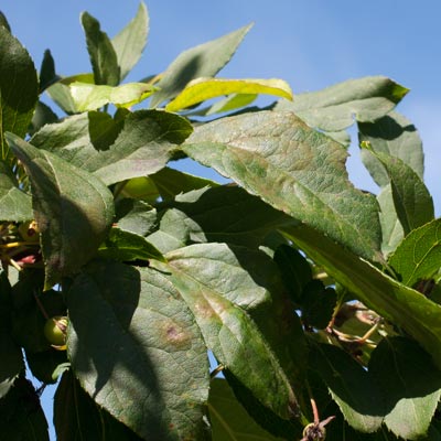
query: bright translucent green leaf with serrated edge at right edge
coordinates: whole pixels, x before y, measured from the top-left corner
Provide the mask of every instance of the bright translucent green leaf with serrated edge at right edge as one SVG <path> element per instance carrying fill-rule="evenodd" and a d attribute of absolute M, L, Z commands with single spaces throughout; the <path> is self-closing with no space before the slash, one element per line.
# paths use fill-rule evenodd
<path fill-rule="evenodd" d="M 441 267 L 441 219 L 435 219 L 411 232 L 389 258 L 389 265 L 404 284 L 412 287 L 428 280 Z"/>

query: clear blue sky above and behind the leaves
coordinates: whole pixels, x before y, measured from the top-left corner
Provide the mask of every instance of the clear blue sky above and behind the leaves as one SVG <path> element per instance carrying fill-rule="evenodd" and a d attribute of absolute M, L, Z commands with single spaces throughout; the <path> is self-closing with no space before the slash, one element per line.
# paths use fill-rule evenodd
<path fill-rule="evenodd" d="M 255 22 L 226 77 L 280 77 L 294 93 L 348 78 L 386 75 L 411 89 L 398 110 L 419 129 L 426 182 L 441 213 L 441 3 L 398 0 L 150 0 L 149 42 L 127 80 L 162 72 L 183 50 Z M 79 24 L 87 10 L 114 36 L 135 15 L 138 0 L 9 0 L 0 3 L 13 34 L 40 66 L 51 49 L 57 72 L 89 72 Z M 351 149 L 351 178 L 374 190 Z"/>

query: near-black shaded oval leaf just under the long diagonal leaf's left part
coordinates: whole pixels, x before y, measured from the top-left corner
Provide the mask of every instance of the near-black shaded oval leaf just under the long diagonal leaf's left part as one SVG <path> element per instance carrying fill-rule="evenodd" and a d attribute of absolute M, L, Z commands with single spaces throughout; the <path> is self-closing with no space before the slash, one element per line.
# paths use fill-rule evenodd
<path fill-rule="evenodd" d="M 308 260 L 294 248 L 282 245 L 275 252 L 288 292 L 300 304 L 303 288 L 312 280 L 312 270 Z"/>

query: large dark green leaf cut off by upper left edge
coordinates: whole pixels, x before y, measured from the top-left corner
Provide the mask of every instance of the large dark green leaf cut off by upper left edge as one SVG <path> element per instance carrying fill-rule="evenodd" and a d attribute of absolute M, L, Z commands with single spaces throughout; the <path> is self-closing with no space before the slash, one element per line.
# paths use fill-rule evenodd
<path fill-rule="evenodd" d="M 7 158 L 3 135 L 24 137 L 39 97 L 35 66 L 28 51 L 0 25 L 0 142 L 1 159 Z"/>

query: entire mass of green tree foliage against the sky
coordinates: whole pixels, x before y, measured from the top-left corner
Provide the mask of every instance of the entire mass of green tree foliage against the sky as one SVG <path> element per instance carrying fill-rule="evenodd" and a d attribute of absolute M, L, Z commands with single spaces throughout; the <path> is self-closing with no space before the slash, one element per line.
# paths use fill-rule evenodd
<path fill-rule="evenodd" d="M 216 76 L 249 26 L 122 83 L 148 21 L 110 39 L 83 13 L 92 73 L 62 77 L 1 17 L 1 438 L 49 439 L 28 374 L 57 383 L 63 441 L 440 440 L 441 224 L 408 89 Z M 347 176 L 354 123 L 377 195 Z"/>

